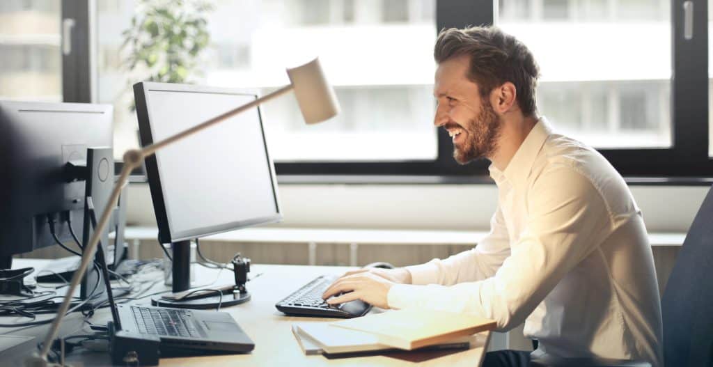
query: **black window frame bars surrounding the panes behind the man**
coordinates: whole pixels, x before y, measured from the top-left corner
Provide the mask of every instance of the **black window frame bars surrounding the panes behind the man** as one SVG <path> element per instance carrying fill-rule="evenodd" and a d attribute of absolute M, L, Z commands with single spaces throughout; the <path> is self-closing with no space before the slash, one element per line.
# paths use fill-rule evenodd
<path fill-rule="evenodd" d="M 490 25 L 498 0 L 436 0 L 436 29 Z M 63 57 L 63 93 L 68 102 L 91 102 L 91 39 L 96 29 L 94 0 L 62 1 L 62 16 L 76 19 L 73 54 Z M 708 156 L 708 11 L 707 1 L 692 0 L 693 38 L 684 39 L 683 3 L 672 11 L 671 148 L 599 149 L 627 182 L 645 185 L 710 185 L 713 160 Z M 91 32 L 83 30 L 91 29 Z M 85 36 L 82 36 L 84 34 Z M 86 36 L 89 35 L 89 36 Z M 91 67 L 90 67 L 91 66 Z M 435 104 L 435 101 L 434 101 Z M 543 111 L 546 115 L 546 111 Z M 435 128 L 434 128 L 435 129 Z M 487 160 L 458 165 L 451 138 L 437 131 L 435 160 L 384 162 L 276 162 L 284 183 L 491 183 Z"/>

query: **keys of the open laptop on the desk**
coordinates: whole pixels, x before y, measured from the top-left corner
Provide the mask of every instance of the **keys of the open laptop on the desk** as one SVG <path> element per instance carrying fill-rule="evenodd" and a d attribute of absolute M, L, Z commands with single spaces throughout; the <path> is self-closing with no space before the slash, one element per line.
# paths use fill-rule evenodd
<path fill-rule="evenodd" d="M 142 334 L 201 337 L 188 310 L 132 306 L 131 311 Z"/>

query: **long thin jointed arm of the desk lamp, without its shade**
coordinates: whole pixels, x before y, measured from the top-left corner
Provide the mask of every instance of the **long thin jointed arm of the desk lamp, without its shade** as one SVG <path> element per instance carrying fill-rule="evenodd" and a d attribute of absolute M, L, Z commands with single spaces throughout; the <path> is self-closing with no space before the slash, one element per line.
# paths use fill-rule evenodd
<path fill-rule="evenodd" d="M 172 143 L 175 143 L 178 140 L 186 138 L 189 135 L 198 133 L 200 130 L 208 128 L 211 125 L 220 123 L 221 121 L 226 120 L 227 118 L 230 118 L 234 115 L 237 115 L 238 113 L 260 105 L 260 103 L 265 103 L 267 100 L 271 100 L 272 98 L 276 98 L 279 95 L 283 95 L 284 93 L 292 91 L 292 88 L 292 84 L 284 86 L 282 88 L 279 88 L 277 91 L 274 91 L 268 95 L 264 95 L 261 98 L 257 98 L 256 100 L 253 100 L 250 103 L 246 103 L 245 105 L 241 105 L 240 107 L 227 111 L 222 115 L 217 115 L 216 117 L 211 118 L 210 120 L 207 120 L 204 123 L 195 125 L 193 126 L 193 128 L 183 130 L 182 132 L 165 138 L 164 140 L 160 140 L 157 143 L 148 145 L 143 149 L 128 150 L 124 154 L 124 165 L 121 169 L 119 179 L 116 182 L 116 185 L 114 185 L 114 189 L 111 192 L 111 196 L 109 197 L 109 200 L 106 203 L 106 207 L 104 208 L 104 211 L 101 214 L 101 218 L 99 219 L 96 228 L 94 228 L 94 232 L 92 234 L 91 240 L 89 241 L 89 244 L 84 247 L 82 261 L 79 264 L 78 269 L 76 269 L 76 271 L 74 272 L 74 276 L 72 276 L 72 281 L 69 284 L 67 293 L 64 296 L 62 304 L 57 311 L 57 317 L 54 319 L 54 321 L 52 321 L 52 325 L 50 326 L 50 329 L 47 332 L 47 336 L 45 336 L 45 340 L 42 344 L 42 349 L 39 353 L 39 356 L 35 354 L 34 356 L 29 357 L 25 362 L 26 366 L 46 365 L 47 354 L 49 353 L 50 347 L 52 346 L 52 341 L 57 336 L 57 331 L 59 330 L 59 326 L 62 324 L 64 314 L 69 309 L 69 304 L 71 303 L 72 295 L 74 294 L 77 285 L 81 281 L 82 276 L 84 276 L 84 273 L 86 272 L 86 269 L 89 263 L 91 262 L 91 258 L 93 257 L 94 251 L 96 250 L 96 246 L 99 243 L 99 237 L 101 237 L 101 232 L 104 230 L 104 227 L 106 227 L 109 222 L 109 217 L 113 212 L 113 207 L 116 206 L 116 202 L 121 193 L 121 189 L 124 187 L 124 185 L 126 185 L 126 182 L 128 182 L 128 177 L 131 171 L 135 168 L 140 167 L 141 162 L 143 162 L 146 157 L 156 153 L 157 150 L 164 148 L 165 146 L 170 145 Z"/>

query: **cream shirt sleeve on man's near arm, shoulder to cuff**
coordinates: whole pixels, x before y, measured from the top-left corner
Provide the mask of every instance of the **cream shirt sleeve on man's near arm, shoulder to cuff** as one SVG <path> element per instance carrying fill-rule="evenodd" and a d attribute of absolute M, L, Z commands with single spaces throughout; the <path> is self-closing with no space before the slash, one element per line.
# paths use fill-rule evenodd
<path fill-rule="evenodd" d="M 389 307 L 419 306 L 521 324 L 556 284 L 612 232 L 604 199 L 573 167 L 549 167 L 528 190 L 528 225 L 496 274 L 453 286 L 396 284 Z"/>

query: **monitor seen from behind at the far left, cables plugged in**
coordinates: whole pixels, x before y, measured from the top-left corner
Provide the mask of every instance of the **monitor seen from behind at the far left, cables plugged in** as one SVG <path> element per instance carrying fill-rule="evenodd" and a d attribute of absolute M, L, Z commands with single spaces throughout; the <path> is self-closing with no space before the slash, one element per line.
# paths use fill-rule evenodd
<path fill-rule="evenodd" d="M 71 181 L 66 164 L 86 165 L 87 148 L 111 147 L 112 120 L 111 105 L 0 101 L 0 269 L 14 254 L 56 244 L 51 227 L 63 243 L 73 240 L 70 227 L 82 237 L 85 181 Z M 101 295 L 98 276 L 88 272 L 83 296 Z"/>

